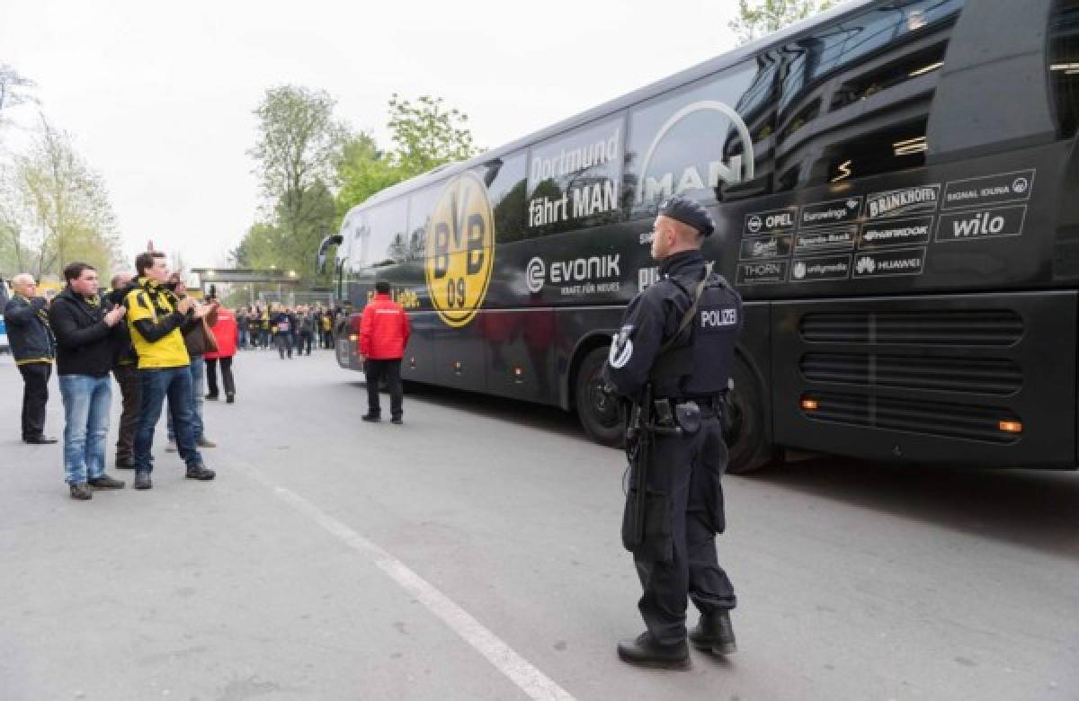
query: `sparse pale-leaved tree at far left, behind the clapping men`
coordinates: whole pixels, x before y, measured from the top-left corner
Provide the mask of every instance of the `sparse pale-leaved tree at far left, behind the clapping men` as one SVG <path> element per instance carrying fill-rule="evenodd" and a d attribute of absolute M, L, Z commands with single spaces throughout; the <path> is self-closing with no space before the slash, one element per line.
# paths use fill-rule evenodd
<path fill-rule="evenodd" d="M 0 185 L 0 253 L 15 271 L 59 275 L 84 261 L 109 275 L 120 259 L 115 216 L 101 177 L 68 134 L 41 118 L 29 150 Z"/>

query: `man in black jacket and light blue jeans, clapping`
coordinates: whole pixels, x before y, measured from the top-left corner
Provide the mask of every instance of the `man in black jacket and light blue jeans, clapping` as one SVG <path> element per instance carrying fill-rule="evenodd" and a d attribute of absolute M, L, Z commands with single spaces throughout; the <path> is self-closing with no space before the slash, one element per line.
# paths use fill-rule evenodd
<path fill-rule="evenodd" d="M 113 328 L 124 307 L 101 308 L 97 271 L 86 263 L 64 269 L 67 287 L 49 307 L 56 334 L 56 373 L 64 399 L 64 471 L 72 499 L 94 495 L 90 487 L 122 490 L 124 483 L 105 472 L 105 441 L 112 403 Z"/>

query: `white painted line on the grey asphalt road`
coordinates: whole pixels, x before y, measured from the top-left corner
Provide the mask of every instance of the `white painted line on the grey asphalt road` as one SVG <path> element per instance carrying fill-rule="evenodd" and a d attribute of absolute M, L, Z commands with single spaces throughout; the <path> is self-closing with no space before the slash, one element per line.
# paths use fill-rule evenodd
<path fill-rule="evenodd" d="M 396 581 L 401 589 L 415 596 L 431 613 L 442 619 L 442 622 L 449 626 L 454 633 L 486 657 L 495 669 L 505 674 L 530 698 L 573 701 L 573 696 L 569 691 L 558 686 L 531 662 L 515 652 L 497 635 L 473 618 L 468 611 L 453 603 L 449 596 L 438 591 L 423 577 L 409 569 L 405 563 L 295 492 L 270 484 L 257 472 L 250 471 L 249 475 L 270 486 L 278 497 L 290 504 L 297 511 L 311 518 L 312 521 L 350 548 L 369 555 L 379 569 Z"/>

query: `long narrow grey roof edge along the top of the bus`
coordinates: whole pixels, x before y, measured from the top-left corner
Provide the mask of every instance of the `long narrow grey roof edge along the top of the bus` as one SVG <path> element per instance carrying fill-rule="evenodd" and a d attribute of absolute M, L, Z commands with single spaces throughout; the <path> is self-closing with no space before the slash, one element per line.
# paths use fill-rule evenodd
<path fill-rule="evenodd" d="M 527 148 L 538 141 L 543 141 L 552 136 L 557 136 L 562 132 L 569 130 L 573 127 L 579 126 L 582 124 L 587 124 L 588 122 L 595 121 L 613 112 L 624 110 L 628 107 L 636 105 L 637 102 L 643 101 L 654 95 L 664 93 L 669 90 L 674 90 L 686 83 L 692 83 L 695 80 L 705 78 L 712 73 L 719 72 L 725 68 L 729 68 L 742 61 L 751 56 L 755 56 L 764 51 L 773 47 L 774 45 L 789 42 L 791 39 L 797 37 L 798 35 L 808 32 L 809 30 L 818 27 L 819 25 L 827 24 L 829 22 L 835 20 L 842 16 L 855 14 L 864 8 L 872 4 L 880 4 L 883 0 L 848 0 L 847 2 L 842 2 L 831 10 L 823 12 L 819 15 L 807 17 L 801 22 L 797 22 L 789 27 L 775 31 L 770 35 L 756 39 L 743 46 L 738 46 L 725 54 L 721 54 L 714 58 L 710 58 L 706 61 L 697 64 L 691 68 L 679 71 L 673 75 L 668 75 L 667 78 L 661 78 L 654 83 L 650 83 L 644 87 L 640 87 L 631 93 L 627 93 L 620 97 L 607 100 L 597 107 L 579 112 L 573 116 L 564 119 L 557 122 L 548 127 L 533 132 L 528 136 L 524 136 L 515 141 L 510 141 L 502 147 L 484 151 L 479 155 L 473 156 L 467 161 L 457 161 L 455 163 L 448 163 L 428 170 L 427 173 L 414 176 L 399 182 L 395 185 L 391 185 L 385 190 L 378 192 L 370 197 L 368 197 L 363 203 L 356 205 L 350 210 L 366 209 L 368 207 L 381 204 L 387 200 L 392 200 L 398 195 L 412 192 L 413 190 L 419 190 L 425 185 L 428 185 L 446 176 L 451 176 L 462 170 L 467 170 L 477 165 L 481 165 L 496 159 L 501 155 L 511 153 L 522 148 Z M 345 220 L 349 216 L 345 215 Z"/>

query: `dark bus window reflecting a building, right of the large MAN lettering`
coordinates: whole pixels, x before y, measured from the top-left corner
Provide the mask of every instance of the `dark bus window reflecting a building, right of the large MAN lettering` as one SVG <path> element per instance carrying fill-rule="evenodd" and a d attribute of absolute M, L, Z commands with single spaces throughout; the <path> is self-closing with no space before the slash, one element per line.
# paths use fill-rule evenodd
<path fill-rule="evenodd" d="M 961 9 L 962 0 L 900 0 L 783 46 L 776 189 L 924 165 Z"/>

